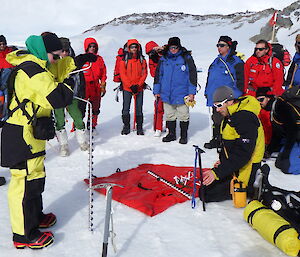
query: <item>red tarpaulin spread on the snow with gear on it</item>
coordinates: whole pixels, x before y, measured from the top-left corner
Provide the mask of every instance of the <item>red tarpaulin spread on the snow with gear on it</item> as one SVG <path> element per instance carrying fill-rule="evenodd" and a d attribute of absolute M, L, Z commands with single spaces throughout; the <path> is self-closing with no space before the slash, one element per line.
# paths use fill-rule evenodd
<path fill-rule="evenodd" d="M 93 186 L 101 183 L 115 183 L 124 186 L 124 188 L 114 187 L 113 199 L 123 203 L 129 207 L 137 209 L 149 216 L 155 216 L 176 203 L 183 203 L 189 200 L 186 196 L 177 192 L 163 182 L 147 173 L 152 171 L 162 178 L 176 185 L 174 177 L 188 176 L 193 174 L 193 167 L 175 167 L 164 164 L 141 164 L 136 168 L 117 172 L 108 177 L 100 177 L 93 179 Z M 205 169 L 204 169 L 205 170 Z M 197 177 L 199 177 L 199 168 L 197 169 Z M 88 184 L 88 180 L 85 182 Z M 186 186 L 177 184 L 185 192 L 192 195 L 193 178 L 191 178 Z M 196 196 L 198 196 L 197 186 Z M 101 194 L 105 194 L 106 190 L 96 189 Z"/>

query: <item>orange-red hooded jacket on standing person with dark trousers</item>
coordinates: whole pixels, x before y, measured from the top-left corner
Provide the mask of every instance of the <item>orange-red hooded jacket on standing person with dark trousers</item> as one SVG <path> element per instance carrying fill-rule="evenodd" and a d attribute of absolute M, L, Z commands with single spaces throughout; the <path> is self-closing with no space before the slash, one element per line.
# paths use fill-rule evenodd
<path fill-rule="evenodd" d="M 139 42 L 136 39 L 127 41 L 128 48 L 132 44 L 137 44 L 139 47 L 137 56 L 129 56 L 127 60 L 123 59 L 120 62 L 120 76 L 124 90 L 131 92 L 130 87 L 138 85 L 138 92 L 141 92 L 144 89 L 144 83 L 148 74 L 147 63 L 144 58 L 141 58 L 142 53 Z"/>

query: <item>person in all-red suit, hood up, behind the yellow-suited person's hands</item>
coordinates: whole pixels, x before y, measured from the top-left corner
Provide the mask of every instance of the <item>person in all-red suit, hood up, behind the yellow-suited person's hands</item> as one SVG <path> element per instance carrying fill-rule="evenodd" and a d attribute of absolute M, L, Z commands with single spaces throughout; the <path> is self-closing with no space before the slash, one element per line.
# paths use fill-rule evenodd
<path fill-rule="evenodd" d="M 86 53 L 97 56 L 97 61 L 91 63 L 91 67 L 83 72 L 86 82 L 85 99 L 92 103 L 92 129 L 95 130 L 100 113 L 101 97 L 106 93 L 106 66 L 103 58 L 98 55 L 98 43 L 94 38 L 84 40 L 84 50 Z M 90 63 L 85 63 L 82 68 L 87 68 L 89 65 Z"/>

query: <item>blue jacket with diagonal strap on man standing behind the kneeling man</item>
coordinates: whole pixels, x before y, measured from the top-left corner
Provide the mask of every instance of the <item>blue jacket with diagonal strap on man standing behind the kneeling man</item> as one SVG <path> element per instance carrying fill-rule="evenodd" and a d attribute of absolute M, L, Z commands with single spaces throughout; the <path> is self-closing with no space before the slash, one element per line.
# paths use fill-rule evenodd
<path fill-rule="evenodd" d="M 204 92 L 207 98 L 207 106 L 213 106 L 213 94 L 221 86 L 231 87 L 235 98 L 242 95 L 244 90 L 244 62 L 234 54 L 235 52 L 231 51 L 225 57 L 218 55 L 209 66 Z"/>

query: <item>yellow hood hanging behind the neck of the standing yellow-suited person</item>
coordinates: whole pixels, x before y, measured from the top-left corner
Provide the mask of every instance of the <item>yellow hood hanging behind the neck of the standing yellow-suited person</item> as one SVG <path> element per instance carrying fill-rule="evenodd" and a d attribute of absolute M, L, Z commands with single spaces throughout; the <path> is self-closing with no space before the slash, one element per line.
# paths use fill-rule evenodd
<path fill-rule="evenodd" d="M 35 55 L 29 53 L 28 51 L 24 50 L 16 50 L 7 54 L 6 60 L 13 66 L 17 66 L 26 61 L 33 61 L 39 64 L 42 68 L 46 68 L 47 66 L 46 60 L 42 60 L 36 57 Z"/>

